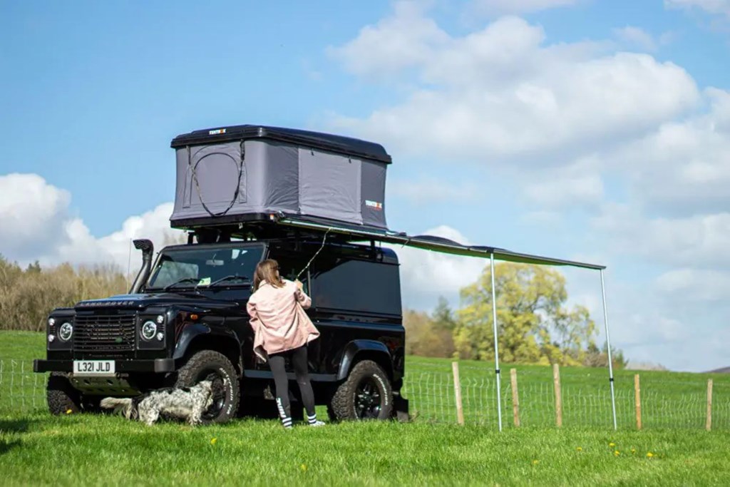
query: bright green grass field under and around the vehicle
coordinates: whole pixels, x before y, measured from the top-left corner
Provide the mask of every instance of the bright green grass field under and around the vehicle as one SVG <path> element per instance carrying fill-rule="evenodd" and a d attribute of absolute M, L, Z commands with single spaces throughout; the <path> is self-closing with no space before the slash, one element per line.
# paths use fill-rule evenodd
<path fill-rule="evenodd" d="M 42 335 L 0 334 L 0 360 L 5 367 L 10 361 L 27 364 L 43 353 Z M 263 420 L 199 428 L 160 423 L 148 428 L 109 415 L 51 417 L 44 412 L 42 396 L 38 397 L 36 407 L 29 405 L 31 396 L 23 407 L 18 402 L 9 404 L 6 370 L 4 382 L 0 383 L 0 483 L 730 484 L 727 429 L 705 432 L 702 423 L 694 429 L 653 427 L 637 432 L 624 425 L 614 432 L 610 416 L 581 427 L 571 426 L 568 421 L 563 429 L 549 426 L 553 418 L 549 404 L 552 375 L 548 367 L 517 367 L 520 401 L 523 390 L 548 391 L 548 404 L 535 402 L 531 406 L 542 410 L 539 415 L 535 413 L 535 423 L 542 416 L 547 423 L 531 425 L 526 421 L 523 424 L 527 426 L 520 429 L 507 427 L 511 407 L 502 433 L 496 431 L 492 413 L 484 413 L 481 425 L 478 421 L 466 426 L 432 423 L 429 420 L 439 418 L 439 414 L 445 415 L 445 421 L 453 421 L 453 411 L 449 410 L 453 386 L 439 383 L 436 387 L 437 380 L 450 376 L 450 367 L 450 361 L 409 358 L 407 380 L 412 378 L 412 384 L 407 386 L 407 395 L 412 400 L 412 410 L 418 410 L 413 423 L 341 423 L 320 429 L 297 425 L 293 431 L 283 431 L 277 421 Z M 460 367 L 463 388 L 473 383 L 480 386 L 479 391 L 486 394 L 492 390 L 493 394 L 493 371 L 489 364 L 462 361 Z M 503 369 L 506 383 L 509 368 Z M 633 373 L 617 372 L 617 389 L 630 386 L 633 391 Z M 42 379 L 40 375 L 31 376 Z M 565 368 L 561 378 L 564 396 L 571 388 L 607 389 L 603 370 Z M 550 388 L 544 386 L 546 380 Z M 696 390 L 702 393 L 706 380 L 706 375 L 642 372 L 642 388 L 647 387 L 645 384 L 659 385 L 666 389 L 667 397 L 677 401 L 696 394 Z M 723 386 L 726 378 L 716 376 L 715 380 Z M 18 391 L 18 387 L 16 383 L 14 390 Z M 28 394 L 42 394 L 42 387 L 33 391 L 31 379 L 26 379 L 23 387 L 30 391 Z M 448 387 L 451 390 L 446 397 L 437 397 L 439 388 Z M 509 392 L 504 389 L 505 394 Z M 488 406 L 491 399 L 483 401 Z M 577 418 L 571 419 L 574 420 Z"/>

